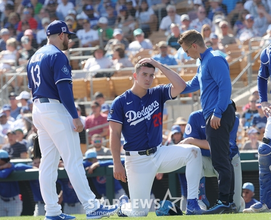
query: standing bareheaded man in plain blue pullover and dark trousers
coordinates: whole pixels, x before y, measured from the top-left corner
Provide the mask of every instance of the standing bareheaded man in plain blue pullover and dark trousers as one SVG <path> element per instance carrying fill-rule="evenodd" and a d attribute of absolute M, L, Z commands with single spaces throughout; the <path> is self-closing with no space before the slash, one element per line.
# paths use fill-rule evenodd
<path fill-rule="evenodd" d="M 199 58 L 201 61 L 195 77 L 186 82 L 183 93 L 200 89 L 212 165 L 219 174 L 218 201 L 206 213 L 220 213 L 231 208 L 229 195 L 234 191 L 234 170 L 229 158 L 229 133 L 235 122 L 235 110 L 230 99 L 229 66 L 218 52 L 206 47 L 198 31 L 183 32 L 178 43 L 189 57 L 195 60 Z"/>

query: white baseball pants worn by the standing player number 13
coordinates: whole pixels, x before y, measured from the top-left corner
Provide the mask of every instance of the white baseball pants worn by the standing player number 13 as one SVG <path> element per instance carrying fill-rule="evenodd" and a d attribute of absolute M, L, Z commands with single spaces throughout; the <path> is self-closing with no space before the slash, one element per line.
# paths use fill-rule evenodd
<path fill-rule="evenodd" d="M 74 131 L 73 119 L 58 100 L 49 99 L 49 101 L 50 103 L 40 103 L 39 99 L 35 99 L 32 111 L 33 123 L 38 129 L 42 153 L 39 181 L 46 216 L 58 216 L 62 213 L 56 192 L 60 156 L 84 209 L 94 211 L 100 206 L 100 203 L 95 200 L 95 194 L 89 187 L 83 167 L 79 134 Z M 89 200 L 94 202 L 93 208 L 90 208 Z"/>

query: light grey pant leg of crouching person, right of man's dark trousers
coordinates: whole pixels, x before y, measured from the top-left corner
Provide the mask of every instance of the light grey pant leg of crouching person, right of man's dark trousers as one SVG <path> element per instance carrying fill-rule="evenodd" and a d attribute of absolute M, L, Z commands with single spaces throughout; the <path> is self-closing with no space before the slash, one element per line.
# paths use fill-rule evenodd
<path fill-rule="evenodd" d="M 241 169 L 241 159 L 238 154 L 236 154 L 231 163 L 234 168 L 234 195 L 233 202 L 236 204 L 237 210 L 240 209 L 241 205 L 241 195 L 242 195 L 242 169 Z"/>

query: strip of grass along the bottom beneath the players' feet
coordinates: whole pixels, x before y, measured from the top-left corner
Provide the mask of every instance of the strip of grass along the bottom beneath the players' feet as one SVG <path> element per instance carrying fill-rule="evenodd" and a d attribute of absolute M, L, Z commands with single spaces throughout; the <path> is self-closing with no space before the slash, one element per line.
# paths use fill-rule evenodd
<path fill-rule="evenodd" d="M 75 215 L 77 220 L 85 220 L 85 215 Z M 223 215 L 202 215 L 202 216 L 171 216 L 171 217 L 157 217 L 154 212 L 149 213 L 148 217 L 133 218 L 133 219 L 145 219 L 145 220 L 271 220 L 271 213 L 256 213 L 256 214 L 223 214 Z M 107 220 L 107 218 L 103 218 Z M 110 219 L 123 219 L 117 215 L 111 216 Z M 128 220 L 130 218 L 124 218 Z M 44 216 L 32 217 L 32 216 L 22 216 L 22 217 L 1 217 L 0 220 L 44 220 Z M 109 220 L 109 219 L 108 219 Z"/>

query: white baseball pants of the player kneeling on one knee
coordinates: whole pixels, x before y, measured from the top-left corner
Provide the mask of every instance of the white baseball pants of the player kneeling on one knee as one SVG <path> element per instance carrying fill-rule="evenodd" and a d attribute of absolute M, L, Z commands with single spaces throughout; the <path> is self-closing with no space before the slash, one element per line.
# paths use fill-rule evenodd
<path fill-rule="evenodd" d="M 156 173 L 170 173 L 186 166 L 187 199 L 198 198 L 198 186 L 202 167 L 200 149 L 191 144 L 158 147 L 150 156 L 140 156 L 130 151 L 125 156 L 125 169 L 128 179 L 131 203 L 121 206 L 129 217 L 147 216 L 151 187 Z"/>

